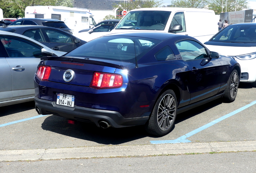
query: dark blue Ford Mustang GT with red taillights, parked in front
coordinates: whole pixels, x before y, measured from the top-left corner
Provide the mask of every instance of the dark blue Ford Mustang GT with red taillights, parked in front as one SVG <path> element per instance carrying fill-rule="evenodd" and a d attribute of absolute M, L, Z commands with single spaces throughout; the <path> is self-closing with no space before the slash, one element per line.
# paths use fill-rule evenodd
<path fill-rule="evenodd" d="M 163 136 L 176 115 L 214 99 L 232 102 L 240 66 L 190 36 L 127 32 L 97 38 L 62 57 L 44 57 L 35 108 L 98 127 L 145 125 Z"/>

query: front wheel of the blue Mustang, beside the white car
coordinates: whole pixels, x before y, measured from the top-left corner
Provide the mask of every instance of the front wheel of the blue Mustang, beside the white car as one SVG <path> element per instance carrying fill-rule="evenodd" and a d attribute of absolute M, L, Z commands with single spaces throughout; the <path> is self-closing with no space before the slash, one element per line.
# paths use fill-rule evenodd
<path fill-rule="evenodd" d="M 231 75 L 229 76 L 229 80 L 227 81 L 227 88 L 224 91 L 223 99 L 225 102 L 231 103 L 235 101 L 239 81 L 240 81 L 240 78 L 237 70 L 233 70 L 231 72 Z"/>

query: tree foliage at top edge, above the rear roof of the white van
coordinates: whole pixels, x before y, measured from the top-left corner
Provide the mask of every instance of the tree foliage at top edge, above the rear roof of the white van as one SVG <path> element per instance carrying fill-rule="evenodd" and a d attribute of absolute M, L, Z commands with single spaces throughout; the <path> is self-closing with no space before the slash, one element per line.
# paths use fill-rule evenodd
<path fill-rule="evenodd" d="M 204 8 L 207 2 L 206 0 L 172 0 L 171 5 L 183 8 Z"/>

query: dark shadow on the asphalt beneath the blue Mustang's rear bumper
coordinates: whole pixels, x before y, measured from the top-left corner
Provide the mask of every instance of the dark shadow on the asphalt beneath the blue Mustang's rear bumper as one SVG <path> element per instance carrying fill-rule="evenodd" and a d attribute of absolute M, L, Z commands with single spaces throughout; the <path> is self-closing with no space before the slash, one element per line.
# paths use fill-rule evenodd
<path fill-rule="evenodd" d="M 149 137 L 143 125 L 118 129 L 113 127 L 102 129 L 90 123 L 76 121 L 75 124 L 72 125 L 67 122 L 68 120 L 66 118 L 52 115 L 45 119 L 41 127 L 46 131 L 52 131 L 61 135 L 93 141 L 104 145 L 118 145 Z"/>

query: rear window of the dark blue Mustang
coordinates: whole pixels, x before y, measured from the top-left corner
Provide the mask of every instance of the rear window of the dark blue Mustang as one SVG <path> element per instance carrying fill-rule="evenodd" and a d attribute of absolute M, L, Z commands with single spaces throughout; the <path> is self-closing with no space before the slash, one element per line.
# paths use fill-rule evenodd
<path fill-rule="evenodd" d="M 105 36 L 91 40 L 65 56 L 100 58 L 135 63 L 160 40 L 129 36 Z"/>

